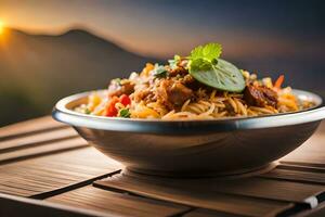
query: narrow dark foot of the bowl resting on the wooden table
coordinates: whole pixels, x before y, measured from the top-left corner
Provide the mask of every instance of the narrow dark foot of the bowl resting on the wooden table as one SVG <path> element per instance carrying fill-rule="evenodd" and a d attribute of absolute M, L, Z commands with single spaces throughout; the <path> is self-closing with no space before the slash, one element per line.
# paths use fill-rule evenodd
<path fill-rule="evenodd" d="M 237 179 L 257 176 L 261 174 L 265 174 L 272 170 L 274 167 L 278 165 L 277 162 L 272 162 L 268 165 L 257 167 L 257 168 L 248 168 L 240 170 L 233 170 L 227 173 L 181 173 L 181 171 L 160 171 L 160 170 L 148 170 L 148 169 L 139 169 L 134 167 L 126 167 L 122 170 L 123 175 L 130 176 L 151 176 L 151 177 L 161 177 L 161 178 L 213 178 L 213 179 Z"/>

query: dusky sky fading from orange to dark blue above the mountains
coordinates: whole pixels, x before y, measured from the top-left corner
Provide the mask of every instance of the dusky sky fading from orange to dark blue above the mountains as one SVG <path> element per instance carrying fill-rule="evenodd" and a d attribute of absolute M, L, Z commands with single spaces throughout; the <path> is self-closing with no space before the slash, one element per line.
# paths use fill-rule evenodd
<path fill-rule="evenodd" d="M 90 29 L 123 48 L 157 58 L 208 41 L 232 58 L 323 53 L 322 0 L 0 0 L 4 25 L 37 34 Z M 324 54 L 323 54 L 324 55 Z"/>

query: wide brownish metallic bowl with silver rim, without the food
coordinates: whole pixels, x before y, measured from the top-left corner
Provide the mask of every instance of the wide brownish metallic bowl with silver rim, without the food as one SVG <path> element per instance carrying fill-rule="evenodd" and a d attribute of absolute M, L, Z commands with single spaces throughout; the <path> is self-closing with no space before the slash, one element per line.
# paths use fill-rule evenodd
<path fill-rule="evenodd" d="M 296 113 L 213 120 L 147 120 L 100 117 L 73 108 L 91 92 L 65 98 L 53 110 L 91 145 L 135 173 L 159 176 L 223 176 L 269 166 L 309 139 L 325 118 L 322 99 L 295 90 L 315 106 Z"/>

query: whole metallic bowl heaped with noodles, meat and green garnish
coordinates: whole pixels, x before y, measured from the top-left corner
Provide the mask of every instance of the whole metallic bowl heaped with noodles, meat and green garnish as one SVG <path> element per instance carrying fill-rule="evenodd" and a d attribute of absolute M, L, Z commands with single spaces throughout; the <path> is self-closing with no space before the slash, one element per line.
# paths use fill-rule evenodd
<path fill-rule="evenodd" d="M 270 167 L 325 118 L 321 97 L 258 78 L 195 48 L 168 64 L 110 80 L 108 88 L 58 101 L 53 117 L 133 173 L 203 177 Z"/>

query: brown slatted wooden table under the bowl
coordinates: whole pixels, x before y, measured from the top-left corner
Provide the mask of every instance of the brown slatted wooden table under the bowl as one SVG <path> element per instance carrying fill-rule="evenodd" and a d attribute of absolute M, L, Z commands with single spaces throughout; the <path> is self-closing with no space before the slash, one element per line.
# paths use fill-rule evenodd
<path fill-rule="evenodd" d="M 325 123 L 266 174 L 155 178 L 121 173 L 70 127 L 41 117 L 0 128 L 0 216 L 325 216 L 323 144 Z"/>

